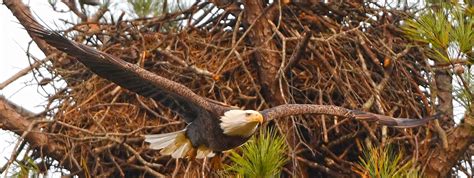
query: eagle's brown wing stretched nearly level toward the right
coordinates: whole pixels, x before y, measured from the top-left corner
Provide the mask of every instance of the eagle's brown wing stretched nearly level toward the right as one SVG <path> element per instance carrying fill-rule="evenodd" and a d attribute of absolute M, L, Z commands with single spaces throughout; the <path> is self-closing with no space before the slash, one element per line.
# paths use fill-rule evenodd
<path fill-rule="evenodd" d="M 406 119 L 406 118 L 393 118 L 380 114 L 374 114 L 370 112 L 363 112 L 357 110 L 350 110 L 339 106 L 331 105 L 314 105 L 314 104 L 286 104 L 280 105 L 273 108 L 265 109 L 261 111 L 263 117 L 266 120 L 272 120 L 279 117 L 292 116 L 298 114 L 326 114 L 341 117 L 350 117 L 356 120 L 366 120 L 377 122 L 382 125 L 397 127 L 397 128 L 410 128 L 418 127 L 426 124 L 428 121 L 436 119 L 434 117 L 427 117 L 423 119 Z"/>

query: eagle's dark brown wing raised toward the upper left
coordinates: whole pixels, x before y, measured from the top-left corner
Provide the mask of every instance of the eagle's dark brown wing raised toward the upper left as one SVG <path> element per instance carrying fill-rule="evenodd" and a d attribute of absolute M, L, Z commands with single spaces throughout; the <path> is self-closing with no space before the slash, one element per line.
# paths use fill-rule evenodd
<path fill-rule="evenodd" d="M 158 76 L 118 57 L 71 41 L 42 26 L 32 25 L 27 30 L 45 40 L 49 45 L 76 58 L 100 77 L 144 97 L 153 98 L 169 107 L 188 123 L 196 118 L 198 112 L 213 111 L 213 104 L 179 83 Z"/>

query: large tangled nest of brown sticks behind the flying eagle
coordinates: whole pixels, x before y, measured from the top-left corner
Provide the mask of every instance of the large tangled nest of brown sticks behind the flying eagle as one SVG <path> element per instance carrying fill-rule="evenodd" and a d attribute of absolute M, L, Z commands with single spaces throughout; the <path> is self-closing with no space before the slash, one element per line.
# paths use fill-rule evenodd
<path fill-rule="evenodd" d="M 247 109 L 271 106 L 260 94 L 256 70 L 262 66 L 251 55 L 268 49 L 249 45 L 246 30 L 252 24 L 239 18 L 240 10 L 221 10 L 210 18 L 199 15 L 212 8 L 197 3 L 159 18 L 77 24 L 65 34 L 182 83 L 201 96 Z M 286 5 L 280 12 L 281 18 L 272 20 L 273 37 L 265 40 L 277 44 L 279 50 L 271 52 L 281 56 L 282 71 L 291 56 L 301 52 L 291 70 L 277 76 L 287 103 L 338 105 L 395 117 L 427 114 L 430 104 L 422 102 L 427 100 L 420 89 L 428 83 L 427 64 L 399 28 L 403 11 L 374 4 L 319 3 Z M 191 17 L 197 20 L 180 21 Z M 172 26 L 178 28 L 163 30 Z M 312 33 L 303 51 L 298 51 L 308 33 L 305 27 Z M 184 128 L 179 117 L 67 56 L 53 61 L 54 66 L 45 68 L 64 80 L 67 89 L 50 98 L 49 113 L 57 122 L 44 128 L 57 138 L 55 142 L 65 145 L 67 155 L 74 158 L 72 164 L 92 175 L 184 174 L 185 160 L 176 165 L 169 156 L 147 149 L 141 138 Z M 323 168 L 354 174 L 351 167 L 363 143 L 382 141 L 381 127 L 346 118 L 305 115 L 287 123 L 290 127 L 279 128 L 293 138 L 288 144 L 296 154 L 288 155 L 292 162 L 306 161 L 284 169 L 293 176 L 327 176 Z M 424 134 L 424 128 L 389 129 L 384 142 L 407 150 L 407 159 L 419 158 L 424 155 L 415 148 L 427 146 Z M 202 175 L 200 171 L 200 164 L 195 164 L 187 174 Z"/>

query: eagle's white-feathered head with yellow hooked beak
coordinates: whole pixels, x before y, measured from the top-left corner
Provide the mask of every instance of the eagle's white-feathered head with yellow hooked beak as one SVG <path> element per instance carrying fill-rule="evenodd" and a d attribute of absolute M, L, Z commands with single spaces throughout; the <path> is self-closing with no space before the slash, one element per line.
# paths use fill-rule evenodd
<path fill-rule="evenodd" d="M 230 110 L 221 117 L 221 129 L 229 136 L 249 137 L 263 123 L 263 116 L 254 110 Z"/>

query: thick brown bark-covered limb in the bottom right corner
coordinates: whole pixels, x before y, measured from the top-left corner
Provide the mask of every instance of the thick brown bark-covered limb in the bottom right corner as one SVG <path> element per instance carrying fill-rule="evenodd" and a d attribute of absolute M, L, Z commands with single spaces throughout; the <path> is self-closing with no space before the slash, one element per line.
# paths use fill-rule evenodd
<path fill-rule="evenodd" d="M 464 123 L 448 134 L 448 149 L 439 144 L 427 160 L 426 177 L 448 177 L 451 168 L 461 159 L 463 154 L 474 143 L 474 117 L 466 115 Z"/>

